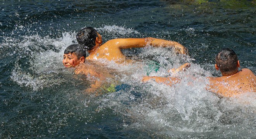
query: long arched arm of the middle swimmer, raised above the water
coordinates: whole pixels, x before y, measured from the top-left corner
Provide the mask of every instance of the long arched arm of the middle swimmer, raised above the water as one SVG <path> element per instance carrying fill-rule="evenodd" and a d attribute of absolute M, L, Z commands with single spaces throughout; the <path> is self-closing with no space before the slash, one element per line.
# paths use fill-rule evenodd
<path fill-rule="evenodd" d="M 112 39 L 107 41 L 105 45 L 108 45 L 109 47 L 118 48 L 118 49 L 127 49 L 127 48 L 135 48 L 135 47 L 139 48 L 139 47 L 145 47 L 148 45 L 153 47 L 174 47 L 178 53 L 188 54 L 187 48 L 178 42 L 167 41 L 164 39 L 156 39 L 152 37 Z"/>

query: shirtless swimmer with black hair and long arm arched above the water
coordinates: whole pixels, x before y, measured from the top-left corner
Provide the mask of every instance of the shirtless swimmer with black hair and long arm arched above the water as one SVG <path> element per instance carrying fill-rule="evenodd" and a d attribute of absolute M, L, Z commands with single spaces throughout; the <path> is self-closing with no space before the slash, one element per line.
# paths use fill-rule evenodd
<path fill-rule="evenodd" d="M 175 41 L 167 41 L 163 39 L 156 39 L 152 37 L 147 38 L 126 38 L 126 39 L 112 39 L 102 44 L 102 37 L 92 27 L 85 27 L 76 34 L 78 44 L 84 46 L 88 50 L 88 60 L 95 61 L 100 58 L 114 61 L 116 63 L 129 62 L 121 49 L 139 48 L 146 46 L 154 47 L 173 47 L 177 53 L 187 54 L 187 48 Z"/>

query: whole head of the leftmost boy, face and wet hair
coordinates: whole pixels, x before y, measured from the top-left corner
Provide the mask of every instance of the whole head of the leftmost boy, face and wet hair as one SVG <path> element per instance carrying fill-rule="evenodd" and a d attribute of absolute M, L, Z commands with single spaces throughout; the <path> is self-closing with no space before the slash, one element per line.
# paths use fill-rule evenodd
<path fill-rule="evenodd" d="M 67 68 L 75 67 L 84 63 L 85 57 L 85 49 L 79 44 L 72 44 L 65 49 L 62 63 Z"/>

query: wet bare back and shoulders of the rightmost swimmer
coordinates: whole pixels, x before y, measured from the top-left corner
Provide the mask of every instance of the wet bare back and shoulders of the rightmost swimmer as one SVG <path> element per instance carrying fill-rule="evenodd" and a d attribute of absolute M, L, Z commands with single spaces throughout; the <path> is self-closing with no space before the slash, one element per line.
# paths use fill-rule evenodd
<path fill-rule="evenodd" d="M 246 68 L 234 75 L 208 78 L 210 83 L 207 89 L 224 97 L 256 91 L 256 76 Z"/>

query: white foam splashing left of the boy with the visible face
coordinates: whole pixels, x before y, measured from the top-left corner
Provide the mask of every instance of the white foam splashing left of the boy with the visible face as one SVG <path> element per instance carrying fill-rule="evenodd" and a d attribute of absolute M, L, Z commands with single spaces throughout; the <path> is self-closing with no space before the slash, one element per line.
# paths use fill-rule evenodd
<path fill-rule="evenodd" d="M 60 69 L 64 68 L 62 65 L 64 49 L 72 44 L 74 39 L 74 33 L 64 32 L 62 37 L 56 39 L 35 35 L 23 36 L 22 41 L 15 40 L 17 43 L 7 42 L 11 47 L 16 47 L 16 45 L 19 47 L 14 50 L 14 53 L 18 53 L 21 55 L 20 58 L 28 60 L 27 63 L 22 64 L 26 64 L 30 70 L 23 70 L 22 65 L 16 62 L 10 78 L 17 84 L 33 90 L 60 84 L 62 80 L 55 74 L 59 74 Z"/>

